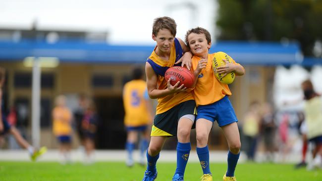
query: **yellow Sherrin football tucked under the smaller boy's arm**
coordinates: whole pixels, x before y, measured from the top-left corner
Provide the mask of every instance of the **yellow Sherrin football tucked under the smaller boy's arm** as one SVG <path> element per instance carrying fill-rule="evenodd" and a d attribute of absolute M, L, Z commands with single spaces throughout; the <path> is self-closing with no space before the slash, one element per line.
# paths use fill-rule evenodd
<path fill-rule="evenodd" d="M 213 70 L 214 70 L 215 77 L 218 79 L 219 82 L 223 84 L 231 84 L 232 82 L 234 82 L 234 79 L 235 79 L 234 72 L 230 72 L 225 77 L 222 77 L 223 74 L 217 73 L 216 68 L 226 64 L 222 59 L 226 59 L 229 63 L 232 62 L 232 58 L 229 55 L 227 55 L 225 52 L 222 52 L 222 51 L 216 52 L 213 59 Z"/>

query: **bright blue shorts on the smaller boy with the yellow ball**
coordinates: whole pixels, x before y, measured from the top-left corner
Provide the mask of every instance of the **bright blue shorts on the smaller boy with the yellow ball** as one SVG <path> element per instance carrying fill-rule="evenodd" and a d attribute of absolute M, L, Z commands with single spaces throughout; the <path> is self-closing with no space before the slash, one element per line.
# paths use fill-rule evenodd
<path fill-rule="evenodd" d="M 234 108 L 232 107 L 228 96 L 208 105 L 197 107 L 196 120 L 204 118 L 211 122 L 217 121 L 219 127 L 238 122 Z"/>

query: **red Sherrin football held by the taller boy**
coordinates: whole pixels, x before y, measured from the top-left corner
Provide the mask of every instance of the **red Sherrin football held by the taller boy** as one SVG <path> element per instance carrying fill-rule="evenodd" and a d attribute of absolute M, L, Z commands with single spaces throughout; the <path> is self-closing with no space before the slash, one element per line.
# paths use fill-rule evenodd
<path fill-rule="evenodd" d="M 170 84 L 172 86 L 180 81 L 178 87 L 184 84 L 184 87 L 186 88 L 192 88 L 195 81 L 195 77 L 193 76 L 192 72 L 187 68 L 180 66 L 168 68 L 164 74 L 164 78 L 166 81 L 170 79 Z"/>

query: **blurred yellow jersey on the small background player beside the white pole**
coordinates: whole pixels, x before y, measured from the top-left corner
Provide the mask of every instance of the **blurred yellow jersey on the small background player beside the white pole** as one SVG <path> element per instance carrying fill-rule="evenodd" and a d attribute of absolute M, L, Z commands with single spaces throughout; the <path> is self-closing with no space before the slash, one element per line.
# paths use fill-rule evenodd
<path fill-rule="evenodd" d="M 71 112 L 67 107 L 55 107 L 53 119 L 53 132 L 55 136 L 71 134 Z"/>

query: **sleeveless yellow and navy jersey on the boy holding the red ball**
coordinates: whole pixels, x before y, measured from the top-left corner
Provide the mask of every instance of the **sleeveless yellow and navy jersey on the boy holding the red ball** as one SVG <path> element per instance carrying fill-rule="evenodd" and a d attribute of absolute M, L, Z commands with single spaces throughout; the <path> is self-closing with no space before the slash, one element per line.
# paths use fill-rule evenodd
<path fill-rule="evenodd" d="M 182 57 L 183 51 L 178 39 L 176 38 L 174 39 L 173 45 L 171 47 L 169 60 L 162 60 L 155 52 L 155 49 L 150 55 L 150 57 L 148 58 L 147 62 L 151 65 L 151 67 L 153 68 L 153 70 L 158 76 L 157 89 L 165 90 L 167 89 L 167 81 L 164 78 L 164 73 L 168 68 L 173 67 L 174 63 Z M 179 64 L 176 66 L 179 66 Z M 186 92 L 186 91 L 160 97 L 158 98 L 156 114 L 161 114 L 181 102 L 192 100 L 192 99 L 193 99 L 192 92 Z"/>

